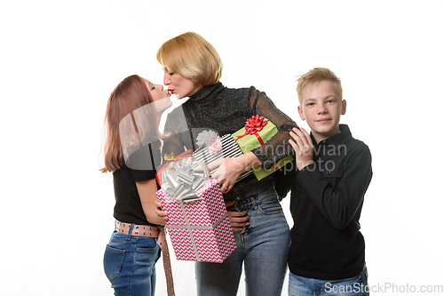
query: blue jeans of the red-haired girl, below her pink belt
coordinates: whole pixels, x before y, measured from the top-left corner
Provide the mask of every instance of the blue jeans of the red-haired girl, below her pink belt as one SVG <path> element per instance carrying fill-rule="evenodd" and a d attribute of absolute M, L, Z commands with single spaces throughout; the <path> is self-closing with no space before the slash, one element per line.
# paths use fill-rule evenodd
<path fill-rule="evenodd" d="M 130 231 L 131 233 L 131 231 Z M 114 232 L 107 244 L 103 266 L 116 296 L 155 294 L 157 239 Z"/>

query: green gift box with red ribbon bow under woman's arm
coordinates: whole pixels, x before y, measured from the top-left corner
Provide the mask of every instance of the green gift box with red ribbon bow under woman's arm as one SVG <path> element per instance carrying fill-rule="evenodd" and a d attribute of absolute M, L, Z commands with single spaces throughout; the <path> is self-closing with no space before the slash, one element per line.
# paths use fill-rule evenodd
<path fill-rule="evenodd" d="M 234 132 L 232 136 L 245 154 L 251 149 L 264 145 L 264 143 L 267 140 L 270 140 L 277 132 L 278 129 L 276 125 L 263 116 L 257 115 L 251 116 L 251 118 L 245 123 L 245 127 Z M 277 164 L 274 164 L 270 170 L 266 171 L 258 165 L 253 168 L 253 173 L 258 180 L 262 180 L 269 174 L 276 172 L 282 166 L 292 161 L 293 156 L 285 156 Z"/>

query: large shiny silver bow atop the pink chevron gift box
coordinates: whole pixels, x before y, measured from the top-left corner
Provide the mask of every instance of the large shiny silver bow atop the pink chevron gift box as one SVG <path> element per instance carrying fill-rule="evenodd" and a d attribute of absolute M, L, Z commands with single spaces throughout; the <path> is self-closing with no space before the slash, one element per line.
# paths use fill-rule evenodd
<path fill-rule="evenodd" d="M 170 162 L 162 172 L 162 188 L 172 199 L 192 202 L 199 199 L 196 191 L 210 179 L 210 171 L 203 160 L 182 157 L 178 163 Z"/>

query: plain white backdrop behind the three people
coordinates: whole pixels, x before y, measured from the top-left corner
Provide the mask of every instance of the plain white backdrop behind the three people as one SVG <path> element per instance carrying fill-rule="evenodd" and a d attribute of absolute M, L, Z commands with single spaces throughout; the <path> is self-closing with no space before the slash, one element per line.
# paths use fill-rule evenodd
<path fill-rule="evenodd" d="M 2 2 L 2 295 L 113 293 L 102 268 L 112 175 L 98 171 L 107 98 L 131 74 L 162 84 L 156 50 L 190 30 L 218 50 L 223 84 L 256 86 L 304 127 L 295 76 L 321 66 L 342 78 L 342 123 L 373 156 L 361 215 L 372 294 L 442 292 L 443 9 L 441 1 Z M 289 198 L 283 207 L 292 224 Z M 194 264 L 172 268 L 177 294 L 194 295 Z"/>

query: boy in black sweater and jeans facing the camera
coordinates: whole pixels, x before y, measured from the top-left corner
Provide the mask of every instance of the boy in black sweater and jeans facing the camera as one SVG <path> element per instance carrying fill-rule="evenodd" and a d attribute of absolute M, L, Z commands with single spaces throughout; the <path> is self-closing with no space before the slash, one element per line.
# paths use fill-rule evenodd
<path fill-rule="evenodd" d="M 297 111 L 311 134 L 303 128 L 290 132 L 297 172 L 291 185 L 289 295 L 368 295 L 359 219 L 372 177 L 369 148 L 339 124 L 346 101 L 331 70 L 313 68 L 300 76 L 297 96 Z"/>

